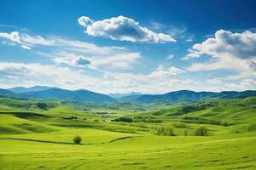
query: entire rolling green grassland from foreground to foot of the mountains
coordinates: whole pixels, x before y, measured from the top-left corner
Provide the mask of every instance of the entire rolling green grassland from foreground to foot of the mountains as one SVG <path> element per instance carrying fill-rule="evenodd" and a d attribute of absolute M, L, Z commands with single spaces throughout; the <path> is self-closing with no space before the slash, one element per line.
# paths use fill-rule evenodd
<path fill-rule="evenodd" d="M 256 98 L 142 111 L 37 102 L 0 99 L 0 169 L 256 169 Z"/>

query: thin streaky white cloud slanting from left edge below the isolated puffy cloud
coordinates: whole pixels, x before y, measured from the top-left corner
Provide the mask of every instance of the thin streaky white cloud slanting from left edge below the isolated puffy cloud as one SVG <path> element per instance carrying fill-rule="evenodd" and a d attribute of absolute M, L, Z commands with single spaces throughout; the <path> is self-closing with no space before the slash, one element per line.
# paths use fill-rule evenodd
<path fill-rule="evenodd" d="M 85 19 L 83 19 L 85 20 Z M 80 20 L 80 22 L 82 22 Z M 21 48 L 31 49 L 34 45 L 49 47 L 48 53 L 37 52 L 50 58 L 56 64 L 70 66 L 91 67 L 105 66 L 121 69 L 129 69 L 141 58 L 138 52 L 131 52 L 127 48 L 117 46 L 99 47 L 94 43 L 67 40 L 61 37 L 44 38 L 41 36 L 30 36 L 17 31 L 11 33 L 0 33 L 0 37 L 7 38 L 12 42 L 20 44 Z M 5 42 L 4 44 L 12 45 Z M 84 58 L 88 55 L 88 58 Z M 81 57 L 82 56 L 82 57 Z"/>

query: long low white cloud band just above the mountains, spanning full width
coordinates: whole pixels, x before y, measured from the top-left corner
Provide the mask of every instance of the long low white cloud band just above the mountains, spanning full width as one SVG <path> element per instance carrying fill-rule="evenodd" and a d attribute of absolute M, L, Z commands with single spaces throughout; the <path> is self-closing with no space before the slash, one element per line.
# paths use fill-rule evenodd
<path fill-rule="evenodd" d="M 41 65 L 38 63 L 0 62 L 0 84 L 2 88 L 14 86 L 47 85 L 60 88 L 87 88 L 103 94 L 139 91 L 142 93 L 166 93 L 181 89 L 195 91 L 210 90 L 244 90 L 255 88 L 253 79 L 244 79 L 239 83 L 216 84 L 207 86 L 188 78 L 174 77 L 181 74 L 175 67 L 165 69 L 162 65 L 148 74 L 133 74 L 114 71 L 104 71 L 104 75 L 95 77 L 87 71 L 73 70 L 60 65 Z M 217 78 L 212 81 L 218 82 Z M 221 86 L 220 86 L 221 85 Z"/>

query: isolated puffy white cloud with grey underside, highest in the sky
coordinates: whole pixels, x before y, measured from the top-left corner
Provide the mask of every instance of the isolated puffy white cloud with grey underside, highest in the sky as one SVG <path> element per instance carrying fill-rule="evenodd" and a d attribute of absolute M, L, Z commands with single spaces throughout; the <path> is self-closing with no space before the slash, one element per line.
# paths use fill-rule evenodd
<path fill-rule="evenodd" d="M 97 21 L 81 16 L 78 21 L 79 25 L 85 27 L 84 32 L 90 36 L 130 42 L 176 42 L 170 35 L 151 31 L 125 16 Z"/>

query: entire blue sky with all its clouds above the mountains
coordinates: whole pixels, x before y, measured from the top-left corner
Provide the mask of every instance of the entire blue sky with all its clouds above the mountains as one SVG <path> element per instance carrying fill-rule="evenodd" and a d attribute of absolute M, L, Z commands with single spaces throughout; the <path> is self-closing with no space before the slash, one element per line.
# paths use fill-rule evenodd
<path fill-rule="evenodd" d="M 0 88 L 256 88 L 255 1 L 1 1 Z"/>

